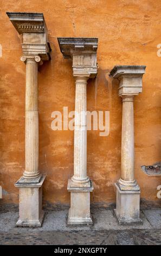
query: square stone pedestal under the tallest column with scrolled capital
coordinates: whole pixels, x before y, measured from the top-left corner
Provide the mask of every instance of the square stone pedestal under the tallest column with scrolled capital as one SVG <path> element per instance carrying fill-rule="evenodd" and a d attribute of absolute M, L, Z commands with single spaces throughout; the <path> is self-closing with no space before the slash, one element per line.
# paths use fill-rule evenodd
<path fill-rule="evenodd" d="M 16 183 L 15 187 L 19 188 L 19 219 L 16 223 L 21 227 L 41 227 L 44 217 L 42 210 L 42 185 L 45 175 L 41 176 L 40 182 L 28 180 L 23 182 L 21 177 Z"/>

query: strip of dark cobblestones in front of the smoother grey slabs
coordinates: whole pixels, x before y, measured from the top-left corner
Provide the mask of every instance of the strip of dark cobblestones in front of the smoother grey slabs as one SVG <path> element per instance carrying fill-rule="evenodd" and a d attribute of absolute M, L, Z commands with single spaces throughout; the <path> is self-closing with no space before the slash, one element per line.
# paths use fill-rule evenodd
<path fill-rule="evenodd" d="M 0 245 L 160 245 L 161 231 L 34 231 L 0 233 Z"/>

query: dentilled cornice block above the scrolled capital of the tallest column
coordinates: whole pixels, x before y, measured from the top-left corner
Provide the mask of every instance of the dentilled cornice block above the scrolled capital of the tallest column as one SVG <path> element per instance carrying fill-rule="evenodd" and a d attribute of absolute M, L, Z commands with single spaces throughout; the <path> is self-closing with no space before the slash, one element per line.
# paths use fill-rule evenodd
<path fill-rule="evenodd" d="M 25 55 L 40 55 L 50 59 L 48 31 L 42 13 L 7 13 L 19 34 L 22 34 L 22 50 Z"/>

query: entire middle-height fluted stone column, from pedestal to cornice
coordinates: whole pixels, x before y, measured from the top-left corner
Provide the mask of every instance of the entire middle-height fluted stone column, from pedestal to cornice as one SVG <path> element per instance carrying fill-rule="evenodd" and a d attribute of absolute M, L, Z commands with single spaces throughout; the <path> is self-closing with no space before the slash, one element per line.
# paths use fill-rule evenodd
<path fill-rule="evenodd" d="M 92 181 L 87 176 L 87 80 L 97 73 L 96 38 L 58 38 L 64 58 L 73 60 L 75 77 L 74 175 L 68 180 L 70 209 L 68 224 L 92 224 L 90 192 Z"/>

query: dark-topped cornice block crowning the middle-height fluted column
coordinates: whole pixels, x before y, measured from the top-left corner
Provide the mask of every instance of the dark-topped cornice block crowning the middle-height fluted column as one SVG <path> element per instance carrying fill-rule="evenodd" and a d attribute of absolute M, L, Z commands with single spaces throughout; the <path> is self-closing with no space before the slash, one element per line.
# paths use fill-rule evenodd
<path fill-rule="evenodd" d="M 96 50 L 97 38 L 58 38 L 64 58 L 73 60 L 73 76 L 89 76 L 97 73 Z"/>

